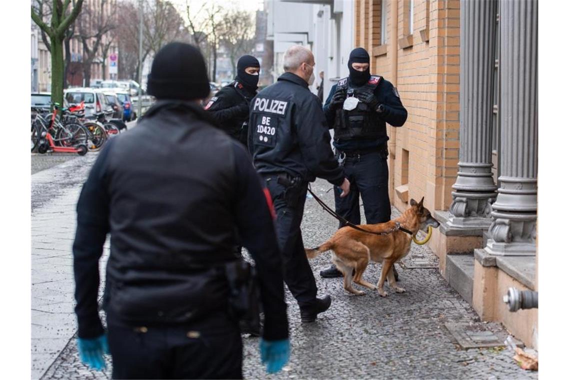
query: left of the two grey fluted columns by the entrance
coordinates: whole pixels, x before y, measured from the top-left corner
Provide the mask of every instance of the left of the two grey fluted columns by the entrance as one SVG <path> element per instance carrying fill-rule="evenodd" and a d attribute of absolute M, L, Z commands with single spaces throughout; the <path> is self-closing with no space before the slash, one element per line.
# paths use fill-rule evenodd
<path fill-rule="evenodd" d="M 496 0 L 461 1 L 459 171 L 446 228 L 469 229 L 469 235 L 482 235 L 490 226 L 496 198 L 491 173 L 496 13 Z"/>

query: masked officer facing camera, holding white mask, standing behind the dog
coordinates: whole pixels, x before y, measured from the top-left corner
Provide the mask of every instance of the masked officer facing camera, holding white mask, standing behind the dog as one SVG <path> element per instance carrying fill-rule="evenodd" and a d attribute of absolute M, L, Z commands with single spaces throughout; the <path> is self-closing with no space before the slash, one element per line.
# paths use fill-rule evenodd
<path fill-rule="evenodd" d="M 360 224 L 360 196 L 368 224 L 388 222 L 391 209 L 386 122 L 402 126 L 408 112 L 392 83 L 370 75 L 370 56 L 364 48 L 351 52 L 348 70 L 349 76 L 333 85 L 323 107 L 329 128 L 335 132 L 337 160 L 344 165 L 352 185 L 348 197 L 341 198 L 335 192 L 336 212 Z M 342 222 L 339 227 L 343 227 Z M 340 277 L 342 273 L 332 265 L 320 275 Z"/>

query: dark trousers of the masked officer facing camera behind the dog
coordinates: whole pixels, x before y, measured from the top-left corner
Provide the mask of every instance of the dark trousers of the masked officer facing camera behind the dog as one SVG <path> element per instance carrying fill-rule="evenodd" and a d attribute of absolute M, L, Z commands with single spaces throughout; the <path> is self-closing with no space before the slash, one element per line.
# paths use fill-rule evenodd
<path fill-rule="evenodd" d="M 336 212 L 351 223 L 361 224 L 360 195 L 367 224 L 388 222 L 392 209 L 388 195 L 388 163 L 384 154 L 376 151 L 356 157 L 347 154 L 344 173 L 351 182 L 351 191 L 340 198 L 340 188 L 335 189 Z M 343 226 L 340 222 L 339 228 Z"/>

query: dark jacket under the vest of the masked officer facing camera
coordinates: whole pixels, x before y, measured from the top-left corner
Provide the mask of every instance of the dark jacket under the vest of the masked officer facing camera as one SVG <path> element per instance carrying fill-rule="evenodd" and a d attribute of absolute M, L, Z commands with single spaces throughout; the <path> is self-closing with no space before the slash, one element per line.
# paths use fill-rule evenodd
<path fill-rule="evenodd" d="M 350 80 L 350 79 L 349 79 Z M 336 91 L 337 85 L 333 85 L 331 92 L 328 94 L 327 101 L 323 106 L 323 111 L 327 117 L 328 128 L 332 129 L 335 125 L 335 109 L 331 107 L 331 99 Z M 357 88 L 357 86 L 350 84 L 350 87 Z M 392 126 L 402 126 L 408 119 L 408 111 L 402 105 L 400 100 L 400 94 L 398 90 L 393 86 L 388 80 L 383 79 L 376 87 L 374 91 L 378 103 L 384 105 L 384 112 L 381 113 L 384 122 Z M 342 107 L 342 106 L 341 106 Z M 380 126 L 379 126 L 380 127 Z M 385 129 L 385 126 L 382 126 Z M 374 148 L 380 148 L 388 141 L 388 136 L 378 138 L 376 140 L 353 140 L 353 141 L 334 141 L 333 145 L 335 148 L 343 150 L 345 152 L 350 152 L 354 150 L 370 150 Z"/>

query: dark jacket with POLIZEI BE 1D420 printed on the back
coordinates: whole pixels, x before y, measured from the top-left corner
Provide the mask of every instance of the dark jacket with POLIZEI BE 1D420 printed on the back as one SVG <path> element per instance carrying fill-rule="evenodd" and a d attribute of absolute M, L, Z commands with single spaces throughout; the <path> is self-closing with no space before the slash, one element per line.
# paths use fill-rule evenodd
<path fill-rule="evenodd" d="M 319 98 L 301 77 L 286 72 L 251 101 L 248 147 L 260 174 L 287 172 L 340 186 L 343 168 L 330 141 Z"/>

